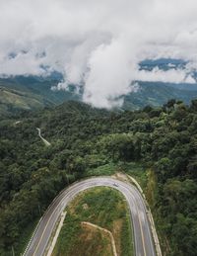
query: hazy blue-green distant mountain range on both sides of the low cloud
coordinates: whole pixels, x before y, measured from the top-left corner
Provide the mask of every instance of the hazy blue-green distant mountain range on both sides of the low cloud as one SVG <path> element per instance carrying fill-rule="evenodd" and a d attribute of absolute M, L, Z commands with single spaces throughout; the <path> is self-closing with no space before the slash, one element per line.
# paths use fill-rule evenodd
<path fill-rule="evenodd" d="M 166 66 L 164 61 L 156 63 L 160 64 L 161 68 Z M 156 63 L 144 62 L 142 68 L 152 68 L 156 66 Z M 179 62 L 178 65 L 180 65 Z M 75 85 L 70 85 L 68 90 L 51 90 L 61 80 L 62 76 L 58 73 L 49 77 L 0 78 L 0 116 L 53 107 L 70 100 L 81 101 L 83 90 L 77 93 Z M 170 99 L 181 100 L 189 104 L 192 99 L 197 97 L 197 84 L 138 83 L 139 90 L 137 92 L 121 97 L 123 98 L 122 109 L 139 110 L 147 105 L 157 107 Z"/>

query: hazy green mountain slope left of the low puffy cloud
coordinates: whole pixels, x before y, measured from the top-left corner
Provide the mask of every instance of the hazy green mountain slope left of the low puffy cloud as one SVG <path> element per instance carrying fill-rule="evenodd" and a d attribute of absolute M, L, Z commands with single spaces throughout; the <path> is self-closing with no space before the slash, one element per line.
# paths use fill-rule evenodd
<path fill-rule="evenodd" d="M 0 116 L 52 107 L 67 100 L 80 100 L 72 85 L 68 91 L 51 90 L 60 79 L 57 75 L 0 78 Z"/>

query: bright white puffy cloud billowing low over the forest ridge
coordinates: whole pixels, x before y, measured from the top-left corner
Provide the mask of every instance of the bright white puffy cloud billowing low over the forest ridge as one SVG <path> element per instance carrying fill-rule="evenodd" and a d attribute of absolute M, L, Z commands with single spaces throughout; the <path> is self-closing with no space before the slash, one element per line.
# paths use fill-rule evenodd
<path fill-rule="evenodd" d="M 101 44 L 92 52 L 85 77 L 84 100 L 109 108 L 117 97 L 130 92 L 132 64 L 121 41 Z M 109 68 L 110 67 L 110 68 Z"/>

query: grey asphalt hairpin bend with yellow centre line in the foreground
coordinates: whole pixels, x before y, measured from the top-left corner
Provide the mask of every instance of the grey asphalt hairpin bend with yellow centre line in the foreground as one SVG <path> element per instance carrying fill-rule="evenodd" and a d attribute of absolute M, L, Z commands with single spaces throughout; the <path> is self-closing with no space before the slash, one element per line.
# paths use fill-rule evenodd
<path fill-rule="evenodd" d="M 68 203 L 79 192 L 99 186 L 114 188 L 125 197 L 131 213 L 136 256 L 155 256 L 156 252 L 151 227 L 147 217 L 146 206 L 140 192 L 128 183 L 110 177 L 89 178 L 74 183 L 63 190 L 42 216 L 24 255 L 43 255 L 55 223 Z"/>

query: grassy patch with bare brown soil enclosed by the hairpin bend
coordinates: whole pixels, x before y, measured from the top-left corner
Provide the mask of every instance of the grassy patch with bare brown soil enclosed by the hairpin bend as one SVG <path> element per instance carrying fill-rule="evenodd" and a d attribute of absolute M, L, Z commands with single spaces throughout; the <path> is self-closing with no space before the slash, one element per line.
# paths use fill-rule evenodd
<path fill-rule="evenodd" d="M 118 255 L 133 255 L 132 231 L 127 204 L 114 189 L 99 187 L 81 193 L 66 209 L 67 215 L 52 256 L 113 255 L 109 237 L 88 221 L 111 231 Z"/>

